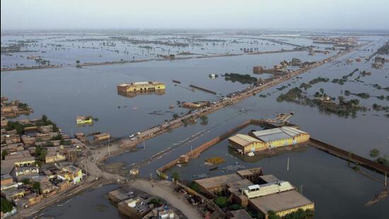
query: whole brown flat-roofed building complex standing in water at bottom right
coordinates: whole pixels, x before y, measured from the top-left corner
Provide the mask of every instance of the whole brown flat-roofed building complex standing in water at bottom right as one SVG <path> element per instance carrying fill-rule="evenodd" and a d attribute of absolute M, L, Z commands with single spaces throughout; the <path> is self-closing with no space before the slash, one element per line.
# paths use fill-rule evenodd
<path fill-rule="evenodd" d="M 315 204 L 298 193 L 288 181 L 273 175 L 263 175 L 261 168 L 244 169 L 236 174 L 214 176 L 194 181 L 208 197 L 224 192 L 233 203 L 248 207 L 268 218 L 269 211 L 280 217 L 298 209 L 314 210 Z M 240 211 L 227 214 L 228 218 L 250 218 Z"/>

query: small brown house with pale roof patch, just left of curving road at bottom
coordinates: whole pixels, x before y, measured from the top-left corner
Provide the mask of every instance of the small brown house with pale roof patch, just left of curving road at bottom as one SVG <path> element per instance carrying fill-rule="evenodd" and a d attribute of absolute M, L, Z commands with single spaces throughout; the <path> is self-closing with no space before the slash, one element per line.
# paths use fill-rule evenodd
<path fill-rule="evenodd" d="M 146 201 L 139 197 L 121 201 L 117 208 L 120 213 L 134 219 L 141 219 L 152 210 Z"/>

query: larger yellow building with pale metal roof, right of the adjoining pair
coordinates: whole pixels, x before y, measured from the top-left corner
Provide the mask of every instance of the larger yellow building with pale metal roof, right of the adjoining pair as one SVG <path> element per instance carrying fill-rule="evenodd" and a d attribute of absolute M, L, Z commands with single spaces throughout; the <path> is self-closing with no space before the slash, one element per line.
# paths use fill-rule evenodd
<path fill-rule="evenodd" d="M 310 135 L 297 128 L 283 126 L 281 128 L 272 128 L 267 130 L 254 131 L 249 133 L 250 136 L 265 144 L 265 148 L 283 147 L 307 142 Z"/>

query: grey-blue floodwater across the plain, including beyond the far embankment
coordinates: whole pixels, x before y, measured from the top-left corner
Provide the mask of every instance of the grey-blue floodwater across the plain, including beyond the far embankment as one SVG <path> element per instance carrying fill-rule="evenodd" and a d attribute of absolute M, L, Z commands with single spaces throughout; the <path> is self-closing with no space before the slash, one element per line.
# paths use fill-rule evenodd
<path fill-rule="evenodd" d="M 292 58 L 298 58 L 303 62 L 314 62 L 335 53 L 330 51 L 326 55 L 322 53 L 308 55 L 306 51 L 291 51 L 255 55 L 240 49 L 253 48 L 256 50 L 257 48 L 259 51 L 273 51 L 293 50 L 294 47 L 269 43 L 268 40 L 231 38 L 231 36 L 213 35 L 188 38 L 172 35 L 151 37 L 126 35 L 125 37 L 124 39 L 114 38 L 112 35 L 87 35 L 80 38 L 79 35 L 57 35 L 57 33 L 45 36 L 6 35 L 6 38 L 1 39 L 2 46 L 11 45 L 18 40 L 31 42 L 23 44 L 21 50 L 28 52 L 18 52 L 19 57 L 15 53 L 12 53 L 12 56 L 2 53 L 1 67 L 16 67 L 16 63 L 18 66 L 20 64 L 33 66 L 36 62 L 26 57 L 37 55 L 43 60 L 50 60 L 51 64 L 66 67 L 1 72 L 1 96 L 21 100 L 33 107 L 34 113 L 21 116 L 21 118 L 37 118 L 46 114 L 62 128 L 62 132 L 69 135 L 79 131 L 83 133 L 101 131 L 111 133 L 112 137 L 126 137 L 153 125 L 164 123 L 173 118 L 175 113 L 178 115 L 187 113 L 188 110 L 180 108 L 178 102 L 214 102 L 222 96 L 248 86 L 248 84 L 226 81 L 222 76 L 225 73 L 250 74 L 252 77 L 265 79 L 269 77 L 269 74 L 254 74 L 252 67 L 261 65 L 272 68 L 275 64 L 283 60 L 292 60 Z M 313 41 L 307 38 L 272 38 L 304 46 L 311 45 Z M 324 64 L 262 91 L 260 94 L 211 113 L 207 116 L 207 123 L 197 122 L 171 130 L 151 140 L 146 140 L 144 144 L 137 145 L 137 150 L 134 152 L 110 157 L 105 162 L 108 164 L 123 162 L 127 167 L 139 167 L 140 175 L 143 177 L 150 175 L 156 177 L 158 167 L 189 152 L 191 148 L 225 133 L 245 120 L 272 118 L 276 113 L 291 111 L 294 112 L 291 123 L 299 125 L 301 130 L 310 133 L 316 139 L 363 157 L 371 158 L 369 151 L 372 148 L 380 150 L 383 156 L 389 156 L 388 111 L 382 107 L 380 110 L 373 107 L 376 105 L 389 106 L 389 90 L 385 89 L 389 88 L 389 67 L 385 64 L 381 69 L 373 69 L 371 68 L 373 60 L 365 61 L 366 57 L 389 38 L 362 36 L 361 39 L 368 41 L 368 45 L 351 52 L 346 57 Z M 207 49 L 202 50 L 203 47 Z M 318 45 L 318 49 L 324 50 L 325 46 Z M 153 60 L 159 59 L 158 54 L 168 55 L 172 51 L 175 54 L 187 54 L 194 58 Z M 227 53 L 239 55 L 195 58 L 197 55 Z M 180 55 L 177 56 L 180 57 Z M 388 55 L 383 55 L 383 57 L 389 59 Z M 150 61 L 74 67 L 76 60 L 85 63 L 120 59 Z M 356 59 L 362 61 L 356 62 Z M 347 76 L 355 69 L 358 70 L 351 76 Z M 364 71 L 370 74 L 363 74 Z M 211 79 L 209 74 L 220 76 Z M 334 79 L 342 79 L 345 76 L 347 79 L 343 84 L 332 82 Z M 318 78 L 324 80 L 312 82 Z M 181 84 L 174 83 L 172 80 L 178 80 Z M 166 84 L 166 91 L 159 95 L 137 96 L 123 96 L 117 93 L 117 84 L 142 81 L 163 82 Z M 344 116 L 323 111 L 314 104 L 277 99 L 290 89 L 301 87 L 303 83 L 310 84 L 307 89 L 303 89 L 304 95 L 309 99 L 314 99 L 317 92 L 327 94 L 333 101 L 343 96 L 346 100 L 357 99 L 364 110 Z M 215 91 L 216 95 L 191 89 L 190 84 Z M 36 89 L 37 87 L 42 89 Z M 361 97 L 356 93 L 366 93 L 369 97 Z M 170 107 L 171 105 L 173 108 Z M 98 121 L 91 126 L 79 126 L 75 122 L 78 115 L 91 115 L 98 118 Z M 255 128 L 259 127 L 249 126 L 240 130 L 240 133 L 247 134 Z M 149 159 L 168 147 L 172 149 L 170 152 Z M 227 162 L 221 164 L 218 170 L 209 172 L 209 169 L 203 165 L 204 159 L 214 156 L 223 157 Z M 287 159 L 291 160 L 289 171 L 286 171 Z M 178 172 L 182 179 L 192 181 L 195 174 L 205 173 L 209 176 L 224 174 L 223 167 L 231 164 L 240 164 L 247 168 L 262 167 L 265 173 L 291 181 L 296 187 L 302 185 L 304 196 L 315 202 L 315 218 L 382 218 L 383 215 L 389 213 L 388 199 L 373 206 L 364 206 L 381 190 L 381 183 L 354 172 L 348 167 L 346 161 L 327 155 L 313 147 L 301 147 L 296 151 L 269 157 L 241 159 L 235 152 L 228 150 L 228 142 L 224 140 L 205 151 L 201 157 L 191 160 L 189 164 L 173 167 L 167 174 Z M 383 179 L 383 176 L 379 174 L 367 169 L 363 170 Z M 98 189 L 81 196 L 98 199 L 102 196 L 100 191 L 108 191 L 108 189 Z M 45 214 L 54 215 L 56 218 L 68 218 L 75 215 L 81 207 L 91 210 L 94 214 L 99 214 L 98 209 L 80 202 L 79 198 L 70 201 L 69 205 L 66 205 L 66 210 L 63 206 L 54 206 Z M 107 201 L 101 200 L 96 203 L 98 204 L 108 205 Z M 117 210 L 111 208 L 112 206 L 107 207 L 108 210 L 103 213 L 118 218 Z"/>

